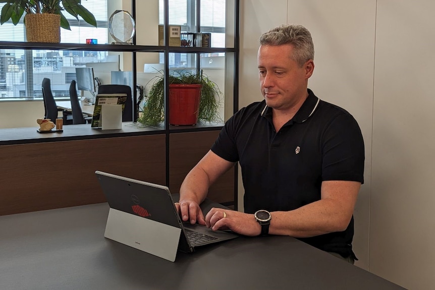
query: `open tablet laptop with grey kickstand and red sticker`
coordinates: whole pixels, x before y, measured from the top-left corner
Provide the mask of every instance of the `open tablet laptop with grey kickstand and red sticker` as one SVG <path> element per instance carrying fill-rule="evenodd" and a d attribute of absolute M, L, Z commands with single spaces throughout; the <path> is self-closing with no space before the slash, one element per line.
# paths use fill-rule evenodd
<path fill-rule="evenodd" d="M 237 238 L 228 231 L 213 231 L 183 223 L 169 188 L 95 171 L 110 206 L 104 237 L 175 261 L 177 251 Z"/>

